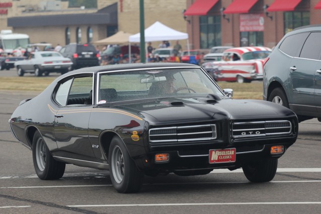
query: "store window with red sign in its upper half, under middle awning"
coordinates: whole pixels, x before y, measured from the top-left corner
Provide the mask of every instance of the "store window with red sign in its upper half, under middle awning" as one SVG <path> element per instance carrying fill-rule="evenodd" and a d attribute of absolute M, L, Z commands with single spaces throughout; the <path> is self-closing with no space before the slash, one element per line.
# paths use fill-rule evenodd
<path fill-rule="evenodd" d="M 263 46 L 264 15 L 240 14 L 240 46 Z"/>

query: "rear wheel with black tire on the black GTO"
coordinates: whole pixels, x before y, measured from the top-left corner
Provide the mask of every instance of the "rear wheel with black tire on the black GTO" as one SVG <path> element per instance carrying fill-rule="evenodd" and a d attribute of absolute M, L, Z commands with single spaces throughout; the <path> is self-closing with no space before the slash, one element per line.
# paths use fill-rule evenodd
<path fill-rule="evenodd" d="M 32 157 L 36 174 L 42 180 L 55 180 L 64 175 L 66 164 L 56 161 L 44 139 L 37 131 L 32 144 Z"/>

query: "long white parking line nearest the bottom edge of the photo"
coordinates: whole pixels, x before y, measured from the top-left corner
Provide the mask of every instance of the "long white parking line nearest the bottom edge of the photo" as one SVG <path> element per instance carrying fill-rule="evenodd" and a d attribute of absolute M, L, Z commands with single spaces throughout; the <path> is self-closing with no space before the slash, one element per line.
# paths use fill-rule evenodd
<path fill-rule="evenodd" d="M 69 207 L 102 207 L 102 206 L 190 206 L 190 205 L 264 205 L 264 204 L 321 204 L 321 201 L 306 202 L 234 202 L 234 203 L 138 203 L 138 204 L 96 204 L 68 205 Z"/>

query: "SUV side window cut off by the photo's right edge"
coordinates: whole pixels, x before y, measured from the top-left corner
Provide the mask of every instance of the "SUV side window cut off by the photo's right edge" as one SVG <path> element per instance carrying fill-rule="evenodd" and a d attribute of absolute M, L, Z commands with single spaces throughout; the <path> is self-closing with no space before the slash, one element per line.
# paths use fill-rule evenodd
<path fill-rule="evenodd" d="M 306 59 L 319 59 L 321 51 L 320 38 L 321 32 L 311 33 L 303 45 L 300 57 Z"/>

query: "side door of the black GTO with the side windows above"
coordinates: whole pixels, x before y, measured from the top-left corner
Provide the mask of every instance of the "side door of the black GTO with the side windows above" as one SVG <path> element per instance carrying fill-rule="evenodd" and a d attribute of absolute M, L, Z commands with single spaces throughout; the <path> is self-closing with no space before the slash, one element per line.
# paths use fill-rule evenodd
<path fill-rule="evenodd" d="M 55 114 L 54 129 L 60 155 L 91 161 L 94 153 L 88 138 L 88 122 L 93 105 L 85 102 L 93 91 L 93 75 L 75 76 L 59 88 L 62 90 L 58 89 L 55 97 L 62 106 Z"/>

